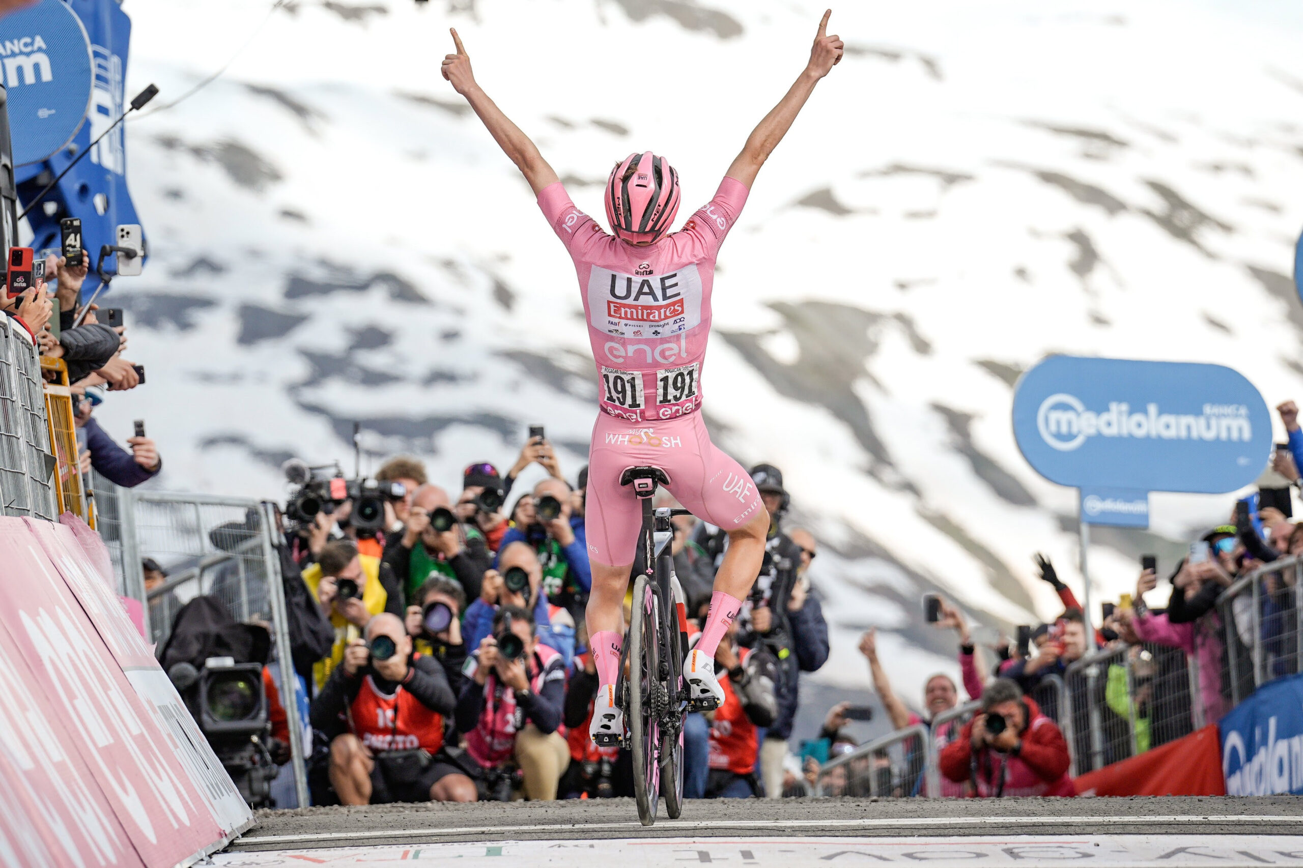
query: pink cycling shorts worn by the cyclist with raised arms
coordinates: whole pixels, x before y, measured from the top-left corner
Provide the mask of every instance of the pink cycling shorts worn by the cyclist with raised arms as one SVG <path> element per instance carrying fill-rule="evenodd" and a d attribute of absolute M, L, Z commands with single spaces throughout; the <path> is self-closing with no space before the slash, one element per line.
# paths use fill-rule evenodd
<path fill-rule="evenodd" d="M 620 485 L 629 467 L 658 467 L 684 508 L 724 530 L 753 520 L 765 507 L 751 476 L 710 442 L 701 413 L 666 422 L 629 422 L 598 413 L 588 455 L 584 525 L 590 560 L 614 567 L 633 563 L 642 508 L 632 486 Z"/>

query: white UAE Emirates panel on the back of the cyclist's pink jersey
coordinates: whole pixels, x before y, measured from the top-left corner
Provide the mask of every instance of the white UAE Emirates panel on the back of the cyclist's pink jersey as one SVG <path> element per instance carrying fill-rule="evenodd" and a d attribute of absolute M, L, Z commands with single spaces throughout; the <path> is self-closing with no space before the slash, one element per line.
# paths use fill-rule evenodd
<path fill-rule="evenodd" d="M 701 325 L 701 275 L 685 265 L 670 274 L 620 274 L 593 266 L 589 322 L 615 338 L 672 339 Z"/>

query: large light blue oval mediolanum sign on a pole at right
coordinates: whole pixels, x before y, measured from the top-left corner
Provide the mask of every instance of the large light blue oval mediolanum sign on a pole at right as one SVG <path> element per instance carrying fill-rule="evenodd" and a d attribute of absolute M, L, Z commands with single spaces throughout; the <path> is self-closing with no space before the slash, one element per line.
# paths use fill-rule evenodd
<path fill-rule="evenodd" d="M 1014 437 L 1059 485 L 1217 494 L 1267 467 L 1272 420 L 1230 368 L 1050 356 L 1018 381 Z"/>

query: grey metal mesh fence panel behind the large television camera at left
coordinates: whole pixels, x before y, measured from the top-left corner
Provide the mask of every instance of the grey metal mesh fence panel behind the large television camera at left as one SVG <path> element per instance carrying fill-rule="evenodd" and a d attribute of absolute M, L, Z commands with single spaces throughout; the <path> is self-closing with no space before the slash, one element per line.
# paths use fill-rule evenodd
<path fill-rule="evenodd" d="M 119 586 L 145 603 L 152 641 L 162 646 L 176 613 L 201 594 L 218 597 L 238 622 L 267 627 L 276 649 L 274 665 L 280 674 L 294 790 L 300 807 L 306 807 L 305 722 L 294 695 L 298 678 L 289 654 L 274 504 L 122 489 L 98 474 L 94 484 L 100 536 L 109 549 Z M 149 590 L 141 564 L 145 558 L 152 558 L 167 572 L 165 580 Z"/>

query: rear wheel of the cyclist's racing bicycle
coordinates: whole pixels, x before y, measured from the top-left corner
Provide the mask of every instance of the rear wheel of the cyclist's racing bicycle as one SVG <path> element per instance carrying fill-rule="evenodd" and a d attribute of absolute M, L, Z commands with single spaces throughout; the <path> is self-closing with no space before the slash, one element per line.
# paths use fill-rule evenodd
<path fill-rule="evenodd" d="M 661 800 L 661 716 L 657 712 L 659 613 L 652 583 L 633 583 L 629 624 L 629 749 L 633 753 L 633 795 L 644 826 L 655 822 Z"/>

